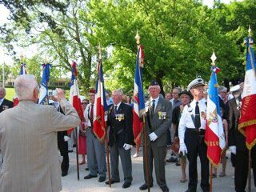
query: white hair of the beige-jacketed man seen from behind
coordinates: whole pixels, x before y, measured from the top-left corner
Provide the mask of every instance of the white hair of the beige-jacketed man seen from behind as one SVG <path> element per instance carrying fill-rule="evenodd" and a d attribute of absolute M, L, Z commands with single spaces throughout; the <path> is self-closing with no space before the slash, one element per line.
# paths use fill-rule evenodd
<path fill-rule="evenodd" d="M 38 82 L 32 74 L 19 75 L 14 81 L 14 89 L 20 101 L 33 98 L 34 89 L 37 87 Z"/>

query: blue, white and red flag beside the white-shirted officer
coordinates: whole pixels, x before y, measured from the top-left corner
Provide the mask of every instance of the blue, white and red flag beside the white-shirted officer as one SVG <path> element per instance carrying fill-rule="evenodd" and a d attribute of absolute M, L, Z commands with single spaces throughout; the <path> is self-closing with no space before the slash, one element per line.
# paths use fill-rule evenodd
<path fill-rule="evenodd" d="M 207 110 L 206 110 L 206 145 L 207 157 L 214 166 L 218 166 L 222 150 L 224 149 L 225 134 L 222 125 L 222 116 L 218 98 L 218 82 L 216 66 L 212 67 L 210 75 Z"/>

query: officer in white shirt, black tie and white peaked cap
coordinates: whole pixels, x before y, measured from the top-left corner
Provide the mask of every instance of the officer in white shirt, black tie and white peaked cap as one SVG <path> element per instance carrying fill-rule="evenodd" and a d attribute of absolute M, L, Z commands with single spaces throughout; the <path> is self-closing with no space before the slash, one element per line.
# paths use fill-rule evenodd
<path fill-rule="evenodd" d="M 186 105 L 178 125 L 180 153 L 187 155 L 189 160 L 188 192 L 197 191 L 198 170 L 197 158 L 201 162 L 201 188 L 210 191 L 209 185 L 209 160 L 206 156 L 207 146 L 204 142 L 206 130 L 206 102 L 203 98 L 204 82 L 196 78 L 188 85 L 187 89 L 193 94 L 194 100 Z"/>

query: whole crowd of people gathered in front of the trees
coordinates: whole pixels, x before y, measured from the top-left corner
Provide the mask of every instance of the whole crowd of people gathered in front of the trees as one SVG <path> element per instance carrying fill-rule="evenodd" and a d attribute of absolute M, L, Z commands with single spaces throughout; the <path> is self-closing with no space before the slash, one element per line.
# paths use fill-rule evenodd
<path fill-rule="evenodd" d="M 38 105 L 38 83 L 33 75 L 26 74 L 16 78 L 14 89 L 19 104 L 12 108 L 13 103 L 5 98 L 6 90 L 0 88 L 0 150 L 3 158 L 0 191 L 60 191 L 60 176 L 65 177 L 69 169 L 69 142 L 74 135 L 74 131 L 69 131 L 70 127 L 78 127 L 76 145 L 78 154 L 82 155 L 79 164 L 86 163 L 86 170 L 89 170 L 84 179 L 98 177 L 98 182 L 105 182 L 106 185 L 120 182 L 120 158 L 124 174 L 122 188 L 130 187 L 133 181 L 130 149 L 136 146 L 133 157 L 137 158 L 142 146 L 144 183 L 139 190 L 147 190 L 154 185 L 154 167 L 158 186 L 163 192 L 168 192 L 165 165 L 168 162 L 175 162 L 177 166 L 181 166 L 180 182 L 188 180 L 186 191 L 197 191 L 199 157 L 200 186 L 202 191 L 210 191 L 209 160 L 204 141 L 207 86 L 202 78 L 191 81 L 186 90 L 174 88 L 172 93 L 166 93 L 165 98 L 160 94 L 158 82 L 150 82 L 149 95 L 145 100 L 146 135 L 142 132 L 141 142 L 134 141 L 133 99 L 122 90 L 113 90 L 111 94 L 106 94 L 109 106 L 106 115 L 111 170 L 109 181 L 106 181 L 106 146 L 98 140 L 93 131 L 94 89 L 89 91 L 88 99 L 81 97 L 84 111 L 82 121 L 73 106 L 66 101 L 63 90 L 57 89 L 57 94 L 49 98 L 49 106 Z M 231 162 L 234 166 L 234 186 L 238 192 L 245 191 L 246 188 L 249 156 L 245 137 L 238 131 L 242 89 L 242 83 L 231 87 L 230 92 L 224 86 L 218 87 L 226 138 L 226 146 L 221 157 L 222 171 L 218 176 L 226 176 L 226 150 L 230 149 Z M 173 150 L 168 158 L 166 152 L 174 143 L 178 143 L 179 149 Z M 72 144 L 71 142 L 71 146 Z M 58 163 L 58 149 L 63 157 L 61 168 Z M 251 150 L 251 156 L 256 185 L 255 146 Z M 217 177 L 216 168 L 213 176 Z"/>

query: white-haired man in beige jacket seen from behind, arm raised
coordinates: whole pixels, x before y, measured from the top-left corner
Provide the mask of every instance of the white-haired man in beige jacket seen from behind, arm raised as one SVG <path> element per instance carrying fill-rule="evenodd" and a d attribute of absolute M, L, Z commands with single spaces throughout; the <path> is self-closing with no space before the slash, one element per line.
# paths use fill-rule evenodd
<path fill-rule="evenodd" d="M 63 90 L 56 100 L 66 115 L 54 106 L 38 105 L 38 83 L 24 74 L 14 81 L 19 104 L 0 114 L 0 149 L 3 164 L 0 191 L 48 192 L 62 190 L 57 131 L 80 123 Z"/>

